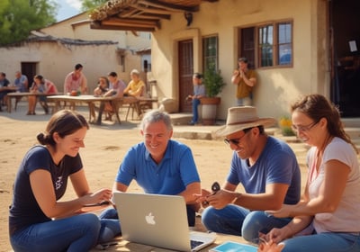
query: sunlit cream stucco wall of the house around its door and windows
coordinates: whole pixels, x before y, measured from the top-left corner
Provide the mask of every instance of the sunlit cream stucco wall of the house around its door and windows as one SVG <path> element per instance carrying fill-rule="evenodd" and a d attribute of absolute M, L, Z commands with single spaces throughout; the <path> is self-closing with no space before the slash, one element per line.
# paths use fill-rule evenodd
<path fill-rule="evenodd" d="M 193 70 L 202 71 L 202 37 L 217 34 L 219 66 L 227 83 L 220 94 L 223 99 L 218 117 L 226 119 L 228 108 L 236 103 L 236 85 L 230 83 L 230 77 L 237 67 L 238 27 L 282 20 L 293 20 L 293 67 L 257 69 L 254 105 L 259 114 L 279 118 L 289 113 L 290 103 L 300 94 L 326 94 L 329 84 L 324 82 L 329 74 L 324 67 L 326 34 L 319 32 L 325 30 L 325 11 L 319 14 L 321 8 L 326 8 L 325 1 L 219 1 L 201 4 L 190 27 L 186 27 L 183 13 L 173 14 L 170 21 L 162 21 L 152 38 L 152 74 L 159 97 L 178 95 L 177 40 L 193 38 Z"/>

